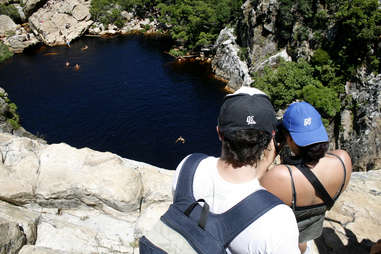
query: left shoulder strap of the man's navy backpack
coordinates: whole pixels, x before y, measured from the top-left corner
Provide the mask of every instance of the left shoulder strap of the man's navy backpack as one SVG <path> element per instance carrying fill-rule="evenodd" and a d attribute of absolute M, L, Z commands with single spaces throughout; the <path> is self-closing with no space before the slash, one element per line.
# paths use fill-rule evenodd
<path fill-rule="evenodd" d="M 184 161 L 177 179 L 173 202 L 177 202 L 183 197 L 191 197 L 194 199 L 193 177 L 198 164 L 206 157 L 208 156 L 203 153 L 193 153 Z"/>

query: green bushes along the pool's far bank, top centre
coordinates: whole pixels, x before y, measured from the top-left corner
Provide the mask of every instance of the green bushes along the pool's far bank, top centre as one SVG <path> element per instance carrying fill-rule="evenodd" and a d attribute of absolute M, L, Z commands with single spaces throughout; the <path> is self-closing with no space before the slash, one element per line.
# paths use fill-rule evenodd
<path fill-rule="evenodd" d="M 123 24 L 121 11 L 140 17 L 156 14 L 170 35 L 188 50 L 210 46 L 220 30 L 239 17 L 243 0 L 93 0 L 90 13 L 104 24 Z"/>

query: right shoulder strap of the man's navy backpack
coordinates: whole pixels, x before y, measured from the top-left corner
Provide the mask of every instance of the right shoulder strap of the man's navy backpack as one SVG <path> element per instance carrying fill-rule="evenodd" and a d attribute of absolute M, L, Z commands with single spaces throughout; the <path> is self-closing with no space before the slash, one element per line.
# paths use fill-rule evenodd
<path fill-rule="evenodd" d="M 219 221 L 225 248 L 241 231 L 279 204 L 283 204 L 279 198 L 262 189 L 252 193 L 227 212 L 221 214 L 222 218 Z"/>

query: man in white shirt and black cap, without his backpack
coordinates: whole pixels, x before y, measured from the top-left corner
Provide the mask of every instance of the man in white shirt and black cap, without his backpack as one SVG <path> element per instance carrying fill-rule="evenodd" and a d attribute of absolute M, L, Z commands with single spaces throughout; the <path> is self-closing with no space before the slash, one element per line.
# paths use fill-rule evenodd
<path fill-rule="evenodd" d="M 262 91 L 242 87 L 227 95 L 217 124 L 221 156 L 208 156 L 198 164 L 193 178 L 195 199 L 204 199 L 211 212 L 222 214 L 250 194 L 264 190 L 259 179 L 276 156 L 275 128 L 274 108 Z M 174 192 L 187 158 L 176 169 Z M 249 224 L 230 242 L 226 251 L 236 254 L 300 253 L 298 236 L 291 208 L 281 203 Z"/>

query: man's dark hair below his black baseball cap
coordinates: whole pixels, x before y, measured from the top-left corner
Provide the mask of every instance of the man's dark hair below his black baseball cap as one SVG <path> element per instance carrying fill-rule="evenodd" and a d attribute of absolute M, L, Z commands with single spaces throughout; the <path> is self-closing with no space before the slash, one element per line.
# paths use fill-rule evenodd
<path fill-rule="evenodd" d="M 260 130 L 237 130 L 224 135 L 221 133 L 221 159 L 232 164 L 234 168 L 254 165 L 268 147 L 272 136 Z"/>

